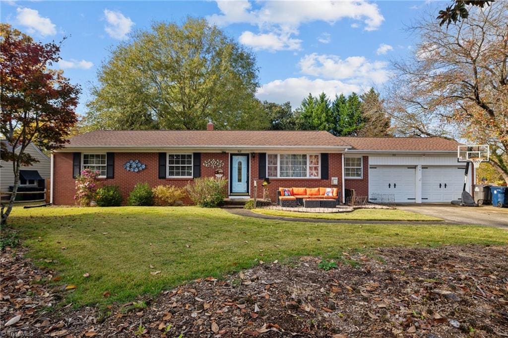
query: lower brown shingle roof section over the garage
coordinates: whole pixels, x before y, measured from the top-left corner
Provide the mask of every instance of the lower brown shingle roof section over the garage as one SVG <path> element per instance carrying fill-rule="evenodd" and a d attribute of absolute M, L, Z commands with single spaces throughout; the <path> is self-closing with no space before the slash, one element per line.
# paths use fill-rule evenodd
<path fill-rule="evenodd" d="M 338 137 L 352 150 L 374 151 L 457 151 L 460 144 L 441 137 Z"/>

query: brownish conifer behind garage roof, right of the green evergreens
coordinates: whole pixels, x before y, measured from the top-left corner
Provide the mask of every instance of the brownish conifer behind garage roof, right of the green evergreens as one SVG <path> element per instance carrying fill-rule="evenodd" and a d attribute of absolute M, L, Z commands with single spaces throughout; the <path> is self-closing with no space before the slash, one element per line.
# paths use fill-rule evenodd
<path fill-rule="evenodd" d="M 360 95 L 362 100 L 361 113 L 363 127 L 358 131 L 359 136 L 386 137 L 392 136 L 390 131 L 391 120 L 385 108 L 385 100 L 379 93 L 370 88 Z"/>

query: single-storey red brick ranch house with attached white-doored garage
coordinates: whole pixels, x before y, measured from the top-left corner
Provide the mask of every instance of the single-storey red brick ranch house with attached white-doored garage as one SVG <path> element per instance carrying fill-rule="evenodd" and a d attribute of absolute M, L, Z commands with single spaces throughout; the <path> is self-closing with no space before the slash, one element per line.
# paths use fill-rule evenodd
<path fill-rule="evenodd" d="M 53 153 L 51 201 L 75 204 L 75 177 L 90 168 L 101 172 L 102 184 L 119 186 L 124 200 L 137 182 L 184 187 L 222 173 L 230 198 L 253 197 L 255 180 L 262 198 L 261 182 L 269 178 L 272 201 L 279 187 L 325 187 L 337 188 L 341 203 L 344 188 L 369 199 L 378 193 L 394 194 L 399 203 L 449 202 L 460 198 L 464 180 L 457 145 L 442 138 L 335 137 L 325 131 L 218 131 L 213 124 L 206 131 L 94 131 Z M 143 169 L 127 170 L 132 163 Z"/>

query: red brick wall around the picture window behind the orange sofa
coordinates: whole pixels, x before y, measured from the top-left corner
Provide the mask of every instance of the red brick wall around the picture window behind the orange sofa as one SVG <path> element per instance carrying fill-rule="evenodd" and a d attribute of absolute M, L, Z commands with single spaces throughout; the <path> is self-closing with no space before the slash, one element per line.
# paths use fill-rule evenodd
<path fill-rule="evenodd" d="M 315 179 L 315 178 L 270 178 L 269 196 L 272 202 L 277 200 L 277 190 L 279 188 L 338 188 L 339 198 L 342 202 L 342 155 L 340 153 L 330 153 L 328 155 L 328 179 Z M 263 180 L 259 180 L 259 158 L 256 153 L 256 158 L 250 159 L 250 191 L 254 196 L 254 180 L 258 179 L 258 198 L 263 198 Z M 339 179 L 338 186 L 332 186 L 332 177 Z"/>

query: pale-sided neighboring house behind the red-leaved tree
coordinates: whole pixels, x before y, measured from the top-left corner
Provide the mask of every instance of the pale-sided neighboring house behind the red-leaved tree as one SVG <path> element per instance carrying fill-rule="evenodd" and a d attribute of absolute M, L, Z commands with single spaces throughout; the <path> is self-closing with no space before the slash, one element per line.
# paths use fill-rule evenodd
<path fill-rule="evenodd" d="M 5 143 L 5 140 L 0 142 Z M 12 151 L 12 146 L 6 144 L 9 151 Z M 20 187 L 45 187 L 44 180 L 50 178 L 50 159 L 36 147 L 30 143 L 25 152 L 36 158 L 39 162 L 31 166 L 23 166 L 20 168 L 19 178 Z M 0 161 L 0 190 L 2 193 L 9 192 L 9 187 L 14 185 L 14 171 L 12 169 L 12 162 Z M 4 196 L 4 194 L 2 194 Z"/>

